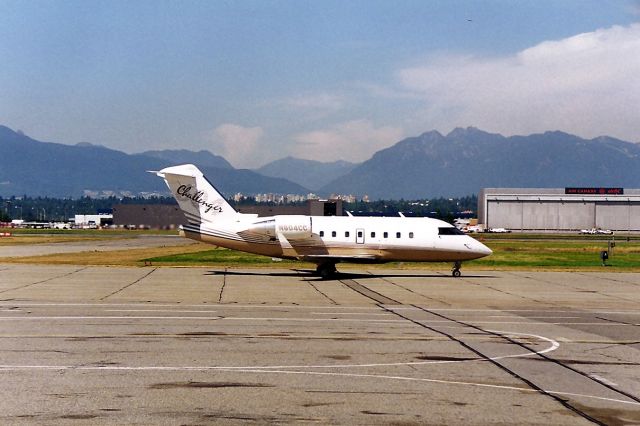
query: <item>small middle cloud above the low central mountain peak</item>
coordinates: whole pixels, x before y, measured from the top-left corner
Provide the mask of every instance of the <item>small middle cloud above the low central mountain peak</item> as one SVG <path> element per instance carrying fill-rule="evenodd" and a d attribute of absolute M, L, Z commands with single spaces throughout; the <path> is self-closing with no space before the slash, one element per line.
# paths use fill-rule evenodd
<path fill-rule="evenodd" d="M 318 161 L 364 161 L 376 151 L 402 138 L 396 127 L 374 127 L 369 120 L 354 120 L 294 137 L 293 155 Z"/>

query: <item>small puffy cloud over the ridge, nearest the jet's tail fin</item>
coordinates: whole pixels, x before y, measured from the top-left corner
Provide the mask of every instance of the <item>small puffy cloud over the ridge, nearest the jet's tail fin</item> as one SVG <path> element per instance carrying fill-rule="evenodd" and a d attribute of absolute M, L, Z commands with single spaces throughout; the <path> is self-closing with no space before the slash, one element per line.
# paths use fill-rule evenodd
<path fill-rule="evenodd" d="M 222 155 L 235 167 L 253 167 L 261 162 L 257 158 L 257 148 L 263 135 L 261 127 L 222 124 L 212 134 L 213 152 Z"/>

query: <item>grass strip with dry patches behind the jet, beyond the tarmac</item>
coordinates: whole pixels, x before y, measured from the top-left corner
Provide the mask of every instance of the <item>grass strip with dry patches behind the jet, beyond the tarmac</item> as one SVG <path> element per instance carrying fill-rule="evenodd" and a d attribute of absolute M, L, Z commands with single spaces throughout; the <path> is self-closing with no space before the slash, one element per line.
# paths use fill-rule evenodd
<path fill-rule="evenodd" d="M 175 235 L 177 231 L 127 230 L 7 230 L 12 237 L 0 238 L 0 246 L 22 244 L 50 244 L 74 241 L 128 239 L 140 235 Z M 611 236 L 578 234 L 475 234 L 478 240 L 493 250 L 483 259 L 465 262 L 463 269 L 521 269 L 521 270 L 582 270 L 640 272 L 640 236 L 615 236 L 616 246 L 602 266 L 600 251 L 607 250 Z M 143 266 L 229 266 L 229 267 L 313 267 L 294 261 L 273 261 L 224 248 L 213 248 L 195 243 L 188 246 L 127 249 L 113 252 L 60 253 L 46 256 L 5 258 L 14 263 L 60 263 L 81 265 Z M 344 266 L 341 266 L 344 267 Z M 359 266 L 356 266 L 359 267 Z M 367 268 L 449 268 L 444 263 L 393 262 L 385 265 L 367 265 Z"/>

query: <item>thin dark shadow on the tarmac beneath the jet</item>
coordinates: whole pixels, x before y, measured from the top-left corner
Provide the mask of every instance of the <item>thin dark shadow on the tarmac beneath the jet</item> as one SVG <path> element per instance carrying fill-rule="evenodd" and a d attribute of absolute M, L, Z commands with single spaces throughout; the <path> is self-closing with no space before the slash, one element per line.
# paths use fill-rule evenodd
<path fill-rule="evenodd" d="M 292 269 L 291 272 L 244 272 L 244 271 L 208 271 L 205 275 L 229 275 L 229 276 L 256 276 L 256 277 L 299 277 L 306 281 L 340 281 L 340 280 L 363 280 L 372 278 L 452 278 L 450 275 L 438 273 L 430 274 L 394 274 L 394 273 L 358 273 L 358 272 L 336 272 L 330 278 L 322 278 L 313 269 Z M 463 275 L 464 278 L 497 278 L 495 275 Z"/>

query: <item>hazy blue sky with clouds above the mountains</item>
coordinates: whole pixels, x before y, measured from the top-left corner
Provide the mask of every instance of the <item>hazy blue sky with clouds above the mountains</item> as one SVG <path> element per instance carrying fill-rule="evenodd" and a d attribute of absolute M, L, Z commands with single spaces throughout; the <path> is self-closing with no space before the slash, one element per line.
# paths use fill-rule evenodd
<path fill-rule="evenodd" d="M 0 124 L 236 167 L 428 130 L 640 141 L 640 2 L 0 0 Z"/>

